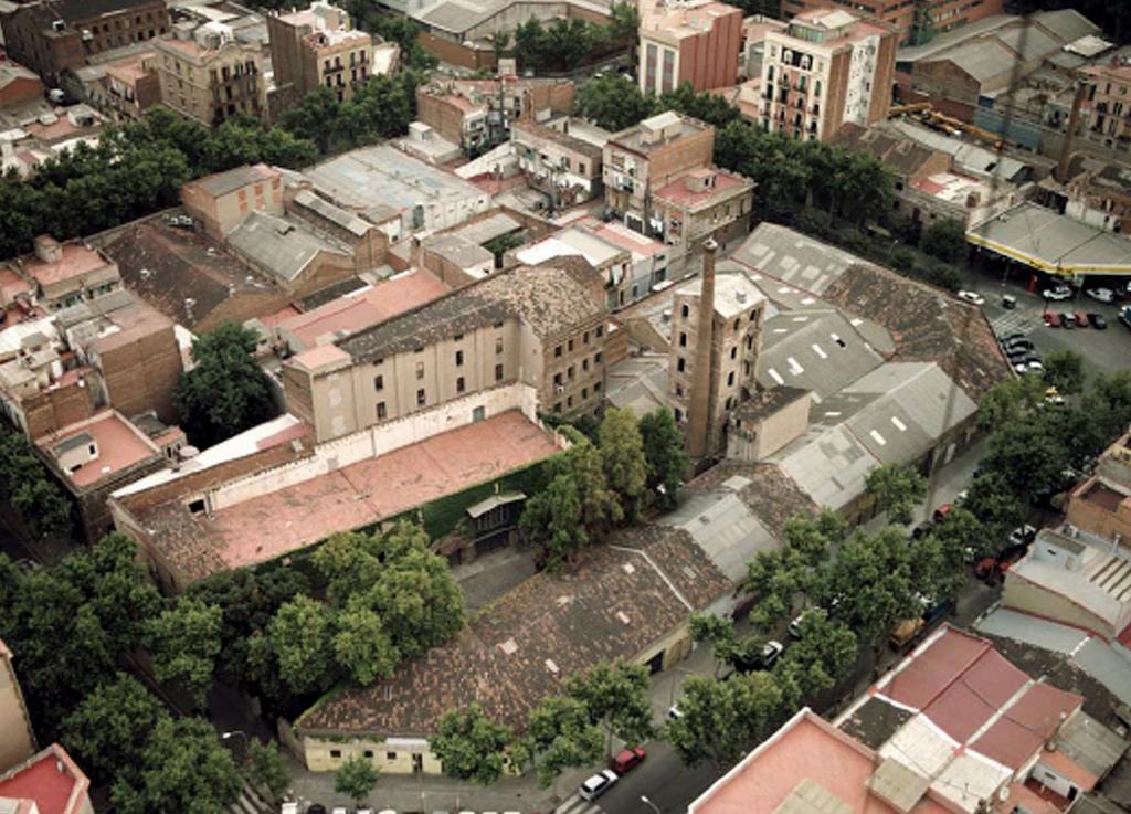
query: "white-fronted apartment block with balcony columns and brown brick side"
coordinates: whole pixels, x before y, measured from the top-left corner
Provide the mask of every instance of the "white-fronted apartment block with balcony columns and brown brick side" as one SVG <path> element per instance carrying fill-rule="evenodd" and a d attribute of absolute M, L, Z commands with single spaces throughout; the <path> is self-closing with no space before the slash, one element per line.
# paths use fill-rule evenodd
<path fill-rule="evenodd" d="M 840 125 L 882 121 L 891 104 L 897 36 L 847 11 L 806 11 L 766 34 L 761 124 L 829 140 Z"/>

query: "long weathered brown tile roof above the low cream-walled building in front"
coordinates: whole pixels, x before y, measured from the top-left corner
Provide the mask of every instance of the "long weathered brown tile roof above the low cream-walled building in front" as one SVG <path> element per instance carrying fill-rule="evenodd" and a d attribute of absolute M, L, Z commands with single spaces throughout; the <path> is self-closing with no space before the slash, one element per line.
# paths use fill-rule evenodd
<path fill-rule="evenodd" d="M 601 659 L 634 658 L 706 607 L 693 582 L 726 584 L 685 532 L 645 532 L 632 551 L 602 546 L 576 573 L 539 573 L 473 618 L 457 640 L 365 690 L 336 693 L 299 720 L 304 734 L 428 736 L 454 707 L 478 702 L 511 727 L 570 674 Z M 647 554 L 647 557 L 644 556 Z M 649 562 L 650 561 L 650 562 Z M 683 565 L 697 575 L 681 573 Z M 717 595 L 716 595 L 717 596 Z"/>

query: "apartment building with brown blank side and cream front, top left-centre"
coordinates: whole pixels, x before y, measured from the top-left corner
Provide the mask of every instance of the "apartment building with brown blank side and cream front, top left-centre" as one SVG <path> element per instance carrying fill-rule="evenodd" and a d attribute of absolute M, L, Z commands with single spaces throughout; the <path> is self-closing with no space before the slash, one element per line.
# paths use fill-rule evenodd
<path fill-rule="evenodd" d="M 373 72 L 373 38 L 325 0 L 268 16 L 267 29 L 275 86 L 291 103 L 317 87 L 330 88 L 339 102 L 349 99 Z"/>

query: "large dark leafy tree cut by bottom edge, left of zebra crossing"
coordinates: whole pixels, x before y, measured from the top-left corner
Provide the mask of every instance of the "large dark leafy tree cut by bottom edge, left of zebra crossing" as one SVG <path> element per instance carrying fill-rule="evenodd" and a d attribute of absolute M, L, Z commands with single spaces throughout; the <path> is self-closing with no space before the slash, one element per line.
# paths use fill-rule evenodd
<path fill-rule="evenodd" d="M 121 814 L 227 814 L 240 795 L 231 753 L 200 718 L 158 721 L 136 769 L 136 778 L 119 778 L 111 789 Z"/>

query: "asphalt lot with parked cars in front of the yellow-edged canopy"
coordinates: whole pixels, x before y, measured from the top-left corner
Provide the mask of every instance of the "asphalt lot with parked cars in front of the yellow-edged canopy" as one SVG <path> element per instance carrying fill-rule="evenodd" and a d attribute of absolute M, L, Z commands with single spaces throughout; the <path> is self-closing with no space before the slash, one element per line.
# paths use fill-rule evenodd
<path fill-rule="evenodd" d="M 1113 287 L 1113 283 L 1088 282 L 1083 288 Z M 1056 350 L 1073 350 L 1083 357 L 1085 371 L 1089 379 L 1097 373 L 1113 373 L 1131 370 L 1131 330 L 1119 322 L 1119 309 L 1129 303 L 1105 304 L 1086 296 L 1081 289 L 1074 298 L 1046 303 L 1038 286 L 1034 293 L 1010 280 L 1004 285 L 987 274 L 970 270 L 967 289 L 985 297 L 982 310 L 998 336 L 1024 334 L 1037 353 L 1044 357 Z M 1002 295 L 1017 298 L 1012 310 L 1002 306 Z M 1045 324 L 1045 311 L 1057 313 L 1082 311 L 1098 313 L 1107 320 L 1106 330 L 1095 328 L 1050 328 Z"/>

